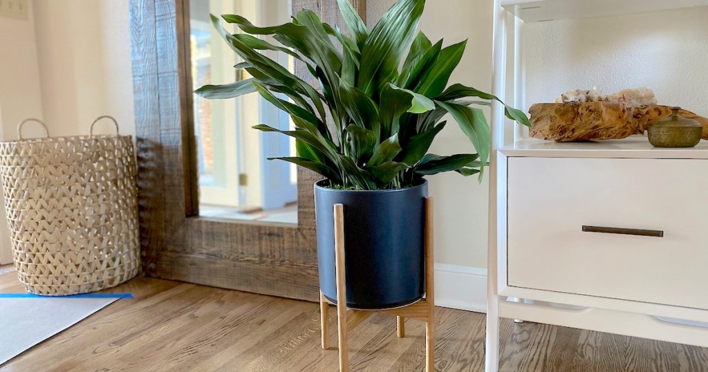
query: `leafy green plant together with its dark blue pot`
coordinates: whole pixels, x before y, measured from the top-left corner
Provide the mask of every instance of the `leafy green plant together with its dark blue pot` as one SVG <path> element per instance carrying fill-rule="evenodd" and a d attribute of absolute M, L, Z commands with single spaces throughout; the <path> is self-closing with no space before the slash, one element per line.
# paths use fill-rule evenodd
<path fill-rule="evenodd" d="M 235 35 L 212 16 L 224 40 L 244 60 L 236 68 L 245 69 L 251 78 L 202 86 L 197 94 L 233 98 L 258 92 L 290 114 L 295 130 L 265 124 L 253 128 L 295 137 L 297 157 L 275 159 L 325 177 L 314 186 L 319 277 L 321 291 L 333 303 L 332 207 L 344 205 L 350 308 L 395 308 L 423 297 L 424 177 L 456 171 L 479 174 L 481 180 L 489 159 L 489 125 L 477 106 L 499 99 L 462 84 L 448 85 L 466 42 L 442 47 L 442 40 L 433 44 L 416 33 L 424 4 L 399 0 L 369 30 L 348 0 L 338 0 L 350 36 L 309 10 L 299 11 L 290 23 L 263 28 L 241 16 L 222 16 L 244 31 Z M 254 35 L 273 35 L 280 45 Z M 260 50 L 292 55 L 318 86 Z M 474 100 L 466 99 L 470 97 Z M 476 153 L 428 153 L 446 125 L 441 120 L 447 113 Z M 530 126 L 515 108 L 506 106 L 506 115 Z"/>

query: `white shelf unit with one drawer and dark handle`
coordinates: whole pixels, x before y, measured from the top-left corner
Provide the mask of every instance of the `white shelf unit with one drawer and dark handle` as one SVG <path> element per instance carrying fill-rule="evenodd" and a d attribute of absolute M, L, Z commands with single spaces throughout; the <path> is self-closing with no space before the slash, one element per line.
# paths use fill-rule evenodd
<path fill-rule="evenodd" d="M 527 107 L 524 22 L 705 5 L 495 0 L 493 93 Z M 644 136 L 554 143 L 525 139 L 516 126 L 505 145 L 504 126 L 495 104 L 486 371 L 498 370 L 499 317 L 708 346 L 708 141 L 690 149 L 654 148 Z"/>

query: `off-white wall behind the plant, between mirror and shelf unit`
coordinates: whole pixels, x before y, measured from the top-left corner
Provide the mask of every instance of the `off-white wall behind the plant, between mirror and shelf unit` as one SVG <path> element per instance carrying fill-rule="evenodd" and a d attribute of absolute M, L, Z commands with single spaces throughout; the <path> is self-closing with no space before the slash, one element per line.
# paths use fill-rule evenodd
<path fill-rule="evenodd" d="M 367 3 L 367 23 L 372 28 L 394 0 Z M 419 26 L 435 43 L 443 46 L 469 39 L 450 84 L 459 82 L 482 91 L 492 84 L 492 1 L 428 0 Z M 488 116 L 489 118 L 489 116 Z M 430 152 L 457 154 L 473 152 L 455 120 L 447 118 L 445 130 L 435 138 Z M 486 267 L 487 176 L 479 184 L 476 176 L 445 173 L 428 177 L 430 196 L 435 199 L 435 261 L 455 266 Z"/>

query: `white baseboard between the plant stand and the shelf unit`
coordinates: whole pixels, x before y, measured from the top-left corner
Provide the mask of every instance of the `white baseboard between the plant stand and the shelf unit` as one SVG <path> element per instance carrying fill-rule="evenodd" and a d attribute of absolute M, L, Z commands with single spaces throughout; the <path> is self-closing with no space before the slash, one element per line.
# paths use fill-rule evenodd
<path fill-rule="evenodd" d="M 486 269 L 435 264 L 435 305 L 486 312 Z"/>

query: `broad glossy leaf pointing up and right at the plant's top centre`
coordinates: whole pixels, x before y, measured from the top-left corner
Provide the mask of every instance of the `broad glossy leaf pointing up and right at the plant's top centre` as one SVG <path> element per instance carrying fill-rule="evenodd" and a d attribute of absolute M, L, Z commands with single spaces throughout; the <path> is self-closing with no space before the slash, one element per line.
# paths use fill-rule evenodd
<path fill-rule="evenodd" d="M 398 74 L 402 55 L 413 39 L 425 0 L 399 0 L 379 20 L 361 49 L 357 87 L 367 96 Z"/>

